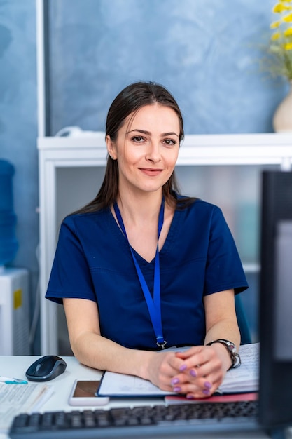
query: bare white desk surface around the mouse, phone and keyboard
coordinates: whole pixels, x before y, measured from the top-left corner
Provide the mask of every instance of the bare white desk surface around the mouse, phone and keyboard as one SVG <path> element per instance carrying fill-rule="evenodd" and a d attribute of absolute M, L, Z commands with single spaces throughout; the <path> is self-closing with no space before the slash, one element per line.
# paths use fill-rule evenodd
<path fill-rule="evenodd" d="M 25 371 L 34 363 L 34 361 L 39 358 L 36 356 L 0 356 L 0 373 L 6 377 L 15 377 L 20 379 L 26 379 Z M 99 379 L 101 376 L 101 372 L 99 370 L 92 369 L 90 367 L 86 367 L 78 363 L 76 358 L 74 357 L 62 357 L 67 363 L 67 369 L 65 372 L 59 377 L 53 379 L 52 381 L 48 381 L 49 384 L 53 385 L 54 393 L 50 397 L 50 399 L 44 403 L 41 407 L 41 412 L 48 411 L 58 411 L 58 410 L 85 410 L 88 407 L 85 406 L 74 406 L 68 404 L 69 393 L 71 391 L 71 387 L 74 384 L 75 379 Z M 12 384 L 11 384 L 12 385 Z M 104 409 L 108 409 L 109 407 L 121 407 L 121 406 L 129 406 L 129 405 L 152 405 L 152 404 L 163 404 L 162 400 L 149 400 L 147 398 L 147 402 L 144 399 L 139 400 L 115 400 L 111 401 L 108 405 L 102 406 Z M 90 407 L 91 408 L 91 407 Z M 92 409 L 99 407 L 92 407 Z M 200 435 L 202 437 L 202 435 Z M 0 433 L 0 439 L 7 439 L 8 435 Z M 235 433 L 212 433 L 211 435 L 204 436 L 205 439 L 246 439 L 246 433 L 237 434 Z M 260 432 L 250 432 L 249 439 L 266 439 L 267 435 Z M 152 438 L 155 439 L 155 438 Z M 178 438 L 181 439 L 181 438 Z"/>

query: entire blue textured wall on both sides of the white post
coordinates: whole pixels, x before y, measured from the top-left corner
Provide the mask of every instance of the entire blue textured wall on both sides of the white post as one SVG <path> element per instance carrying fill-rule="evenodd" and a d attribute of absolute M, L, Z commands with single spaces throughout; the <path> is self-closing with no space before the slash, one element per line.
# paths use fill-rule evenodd
<path fill-rule="evenodd" d="M 273 4 L 49 0 L 51 134 L 69 125 L 103 130 L 113 97 L 140 79 L 174 93 L 186 133 L 272 131 L 286 84 L 263 79 L 257 45 L 269 32 Z M 0 157 L 16 170 L 20 248 L 13 265 L 32 274 L 32 307 L 39 242 L 35 19 L 35 0 L 0 0 Z"/>

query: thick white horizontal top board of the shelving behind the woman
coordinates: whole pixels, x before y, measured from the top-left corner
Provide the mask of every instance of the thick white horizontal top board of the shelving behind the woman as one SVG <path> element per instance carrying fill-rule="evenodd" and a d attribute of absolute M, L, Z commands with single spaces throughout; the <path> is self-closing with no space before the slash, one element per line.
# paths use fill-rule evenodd
<path fill-rule="evenodd" d="M 41 137 L 40 154 L 60 166 L 105 166 L 104 133 L 83 137 Z M 68 163 L 64 161 L 69 160 Z M 243 135 L 186 135 L 178 165 L 279 165 L 292 167 L 292 133 Z"/>

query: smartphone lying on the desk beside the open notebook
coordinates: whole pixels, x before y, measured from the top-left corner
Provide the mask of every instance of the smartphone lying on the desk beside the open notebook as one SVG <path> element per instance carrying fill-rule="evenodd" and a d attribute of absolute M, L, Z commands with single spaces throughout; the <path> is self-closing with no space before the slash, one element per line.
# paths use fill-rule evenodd
<path fill-rule="evenodd" d="M 97 391 L 100 381 L 88 380 L 79 381 L 76 379 L 72 387 L 69 404 L 70 405 L 105 405 L 109 403 L 108 396 L 98 396 Z"/>

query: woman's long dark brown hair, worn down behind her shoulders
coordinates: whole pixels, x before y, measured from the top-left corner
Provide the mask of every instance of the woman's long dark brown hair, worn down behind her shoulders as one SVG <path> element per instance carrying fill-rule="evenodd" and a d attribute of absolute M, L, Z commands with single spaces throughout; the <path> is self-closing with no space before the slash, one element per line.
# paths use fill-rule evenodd
<path fill-rule="evenodd" d="M 162 106 L 171 108 L 176 112 L 179 119 L 179 142 L 183 140 L 183 117 L 176 100 L 169 91 L 158 83 L 154 82 L 135 82 L 125 87 L 113 100 L 106 118 L 106 136 L 111 140 L 116 140 L 118 130 L 125 123 L 125 119 L 130 114 L 135 114 L 146 105 L 158 103 Z M 176 205 L 176 194 L 179 194 L 179 187 L 175 173 L 162 187 L 162 194 L 165 201 Z M 97 196 L 78 213 L 95 212 L 97 210 L 111 206 L 118 196 L 118 161 L 110 156 L 107 158 L 104 181 L 99 189 Z"/>

